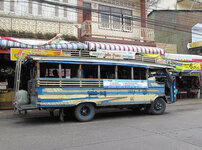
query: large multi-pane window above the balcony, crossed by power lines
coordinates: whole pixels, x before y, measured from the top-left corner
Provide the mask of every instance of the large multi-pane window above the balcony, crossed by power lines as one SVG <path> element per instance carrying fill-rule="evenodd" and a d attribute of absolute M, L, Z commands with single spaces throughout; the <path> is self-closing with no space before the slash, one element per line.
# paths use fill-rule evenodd
<path fill-rule="evenodd" d="M 119 31 L 132 31 L 132 10 L 99 5 L 99 27 Z"/>

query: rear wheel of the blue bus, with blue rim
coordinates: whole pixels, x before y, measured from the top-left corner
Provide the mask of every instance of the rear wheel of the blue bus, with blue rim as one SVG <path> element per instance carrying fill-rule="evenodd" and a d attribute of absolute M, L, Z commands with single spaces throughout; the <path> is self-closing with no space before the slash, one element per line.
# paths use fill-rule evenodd
<path fill-rule="evenodd" d="M 74 115 L 78 121 L 90 121 L 95 116 L 95 107 L 90 103 L 80 104 L 75 108 Z"/>

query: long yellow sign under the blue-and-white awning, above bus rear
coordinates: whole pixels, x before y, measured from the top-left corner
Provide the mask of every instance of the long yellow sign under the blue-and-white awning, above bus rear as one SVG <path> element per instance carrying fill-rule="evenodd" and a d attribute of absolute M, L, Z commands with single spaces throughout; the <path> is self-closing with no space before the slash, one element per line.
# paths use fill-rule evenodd
<path fill-rule="evenodd" d="M 22 55 L 26 57 L 27 55 L 50 55 L 50 56 L 65 56 L 64 52 L 60 50 L 35 50 L 35 49 L 20 49 L 20 48 L 11 48 L 10 57 L 11 60 L 16 61 L 18 59 L 19 53 L 22 52 Z"/>

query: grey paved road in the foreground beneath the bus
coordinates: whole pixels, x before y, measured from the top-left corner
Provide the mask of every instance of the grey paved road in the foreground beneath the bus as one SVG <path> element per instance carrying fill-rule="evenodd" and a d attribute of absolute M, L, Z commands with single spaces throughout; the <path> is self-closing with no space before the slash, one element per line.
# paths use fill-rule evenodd
<path fill-rule="evenodd" d="M 44 115 L 0 119 L 0 150 L 202 150 L 202 103 L 160 116 L 99 113 L 87 123 Z"/>

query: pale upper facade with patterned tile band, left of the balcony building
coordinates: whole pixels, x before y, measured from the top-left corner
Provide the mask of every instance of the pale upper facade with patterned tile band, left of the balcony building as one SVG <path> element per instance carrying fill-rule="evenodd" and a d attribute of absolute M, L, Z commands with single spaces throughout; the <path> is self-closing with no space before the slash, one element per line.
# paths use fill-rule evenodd
<path fill-rule="evenodd" d="M 34 0 L 0 2 L 0 29 L 31 33 L 62 33 L 78 37 L 77 0 L 54 0 L 62 6 Z"/>

